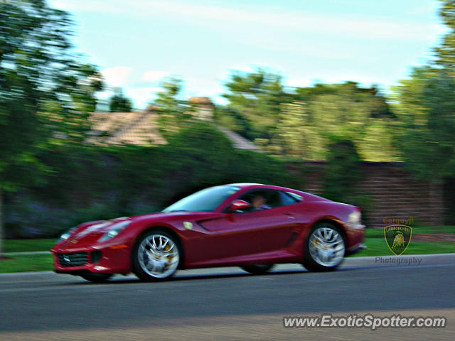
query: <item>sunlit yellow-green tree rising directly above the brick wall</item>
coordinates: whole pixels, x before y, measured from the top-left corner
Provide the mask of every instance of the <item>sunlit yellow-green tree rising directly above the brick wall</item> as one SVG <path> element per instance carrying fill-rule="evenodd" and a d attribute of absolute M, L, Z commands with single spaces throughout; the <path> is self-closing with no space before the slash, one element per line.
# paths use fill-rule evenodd
<path fill-rule="evenodd" d="M 326 159 L 333 139 L 352 140 L 363 159 L 395 157 L 388 124 L 393 114 L 378 89 L 355 82 L 297 88 L 281 106 L 273 144 L 282 154 Z"/>

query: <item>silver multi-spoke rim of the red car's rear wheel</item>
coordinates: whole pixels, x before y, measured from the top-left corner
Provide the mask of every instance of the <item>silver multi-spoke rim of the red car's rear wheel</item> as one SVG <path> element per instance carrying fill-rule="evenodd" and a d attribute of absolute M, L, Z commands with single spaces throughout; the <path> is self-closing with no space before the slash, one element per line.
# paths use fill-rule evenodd
<path fill-rule="evenodd" d="M 309 237 L 309 253 L 317 264 L 337 266 L 343 261 L 345 245 L 341 234 L 331 227 L 319 227 Z"/>

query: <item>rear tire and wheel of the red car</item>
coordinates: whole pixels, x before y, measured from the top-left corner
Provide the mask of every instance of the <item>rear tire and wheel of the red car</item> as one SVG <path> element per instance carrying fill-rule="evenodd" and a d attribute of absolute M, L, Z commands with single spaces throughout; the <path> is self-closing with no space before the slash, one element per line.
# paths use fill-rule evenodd
<path fill-rule="evenodd" d="M 333 271 L 346 254 L 346 239 L 341 229 L 329 222 L 316 224 L 305 243 L 303 265 L 309 271 Z"/>

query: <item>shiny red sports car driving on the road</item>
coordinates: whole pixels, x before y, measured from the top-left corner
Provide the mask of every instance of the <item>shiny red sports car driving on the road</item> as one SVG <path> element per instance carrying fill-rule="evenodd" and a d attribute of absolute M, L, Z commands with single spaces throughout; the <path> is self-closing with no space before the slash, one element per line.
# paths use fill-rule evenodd
<path fill-rule="evenodd" d="M 277 263 L 328 271 L 361 247 L 363 228 L 358 207 L 235 183 L 205 188 L 158 213 L 80 224 L 51 251 L 55 272 L 88 281 L 130 272 L 158 280 L 215 266 L 260 274 Z"/>

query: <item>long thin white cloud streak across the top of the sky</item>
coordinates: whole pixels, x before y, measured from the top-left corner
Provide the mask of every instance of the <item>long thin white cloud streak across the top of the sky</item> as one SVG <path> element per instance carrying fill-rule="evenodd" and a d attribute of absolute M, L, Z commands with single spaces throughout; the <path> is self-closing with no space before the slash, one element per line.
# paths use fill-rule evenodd
<path fill-rule="evenodd" d="M 274 11 L 267 6 L 250 9 L 199 5 L 185 1 L 129 0 L 75 1 L 55 0 L 53 5 L 67 11 L 115 13 L 126 16 L 162 17 L 175 21 L 197 22 L 216 31 L 254 33 L 282 29 L 297 34 L 326 34 L 358 39 L 423 40 L 434 38 L 444 31 L 437 23 L 385 21 L 374 16 L 351 15 L 346 17 L 321 15 L 310 11 Z M 259 9 L 259 10 L 258 10 Z"/>

